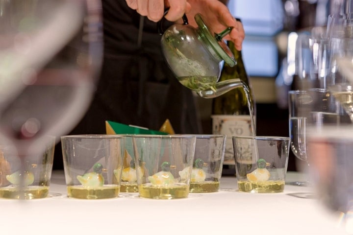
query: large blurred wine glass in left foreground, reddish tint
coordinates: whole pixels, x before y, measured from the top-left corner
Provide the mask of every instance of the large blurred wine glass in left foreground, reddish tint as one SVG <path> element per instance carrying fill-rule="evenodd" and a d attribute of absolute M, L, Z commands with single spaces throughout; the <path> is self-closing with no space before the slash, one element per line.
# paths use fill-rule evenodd
<path fill-rule="evenodd" d="M 70 132 L 90 104 L 101 2 L 0 0 L 0 12 L 0 141 L 17 150 L 11 171 L 25 172 L 26 157 Z"/>

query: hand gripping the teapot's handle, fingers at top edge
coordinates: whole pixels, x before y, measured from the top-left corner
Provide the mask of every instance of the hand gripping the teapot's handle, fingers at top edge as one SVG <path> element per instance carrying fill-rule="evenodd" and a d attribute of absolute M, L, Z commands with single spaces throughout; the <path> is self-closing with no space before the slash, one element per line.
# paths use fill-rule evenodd
<path fill-rule="evenodd" d="M 165 19 L 177 21 L 191 8 L 186 0 L 126 0 L 127 5 L 151 21 L 162 19 L 165 8 L 169 7 Z"/>

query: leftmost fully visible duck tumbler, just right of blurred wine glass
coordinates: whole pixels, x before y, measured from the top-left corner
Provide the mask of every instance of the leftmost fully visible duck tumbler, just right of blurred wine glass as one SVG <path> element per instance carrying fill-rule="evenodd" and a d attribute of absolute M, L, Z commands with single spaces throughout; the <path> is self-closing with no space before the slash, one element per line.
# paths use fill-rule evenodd
<path fill-rule="evenodd" d="M 125 136 L 62 136 L 68 196 L 78 199 L 118 197 Z"/>

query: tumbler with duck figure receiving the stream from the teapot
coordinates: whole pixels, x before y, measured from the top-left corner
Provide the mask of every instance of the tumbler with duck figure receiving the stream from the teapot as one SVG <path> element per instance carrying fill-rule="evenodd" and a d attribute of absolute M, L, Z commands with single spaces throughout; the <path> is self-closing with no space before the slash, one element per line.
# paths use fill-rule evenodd
<path fill-rule="evenodd" d="M 284 190 L 288 137 L 233 136 L 232 141 L 239 191 L 276 193 Z"/>

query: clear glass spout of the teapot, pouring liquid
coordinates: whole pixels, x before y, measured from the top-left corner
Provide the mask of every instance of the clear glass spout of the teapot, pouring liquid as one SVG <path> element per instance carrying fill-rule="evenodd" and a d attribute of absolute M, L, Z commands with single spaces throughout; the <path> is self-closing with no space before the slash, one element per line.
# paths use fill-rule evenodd
<path fill-rule="evenodd" d="M 243 82 L 239 78 L 217 82 L 215 86 L 197 92 L 202 98 L 215 98 L 229 92 L 237 87 L 243 87 Z"/>

